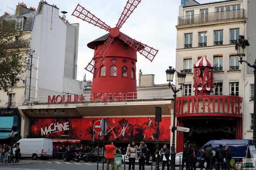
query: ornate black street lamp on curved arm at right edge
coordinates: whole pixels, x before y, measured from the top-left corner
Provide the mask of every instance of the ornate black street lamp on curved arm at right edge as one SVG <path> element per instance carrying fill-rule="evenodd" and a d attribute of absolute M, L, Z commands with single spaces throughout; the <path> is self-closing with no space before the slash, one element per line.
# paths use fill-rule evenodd
<path fill-rule="evenodd" d="M 248 40 L 245 39 L 245 36 L 239 35 L 238 40 L 236 40 L 235 49 L 237 50 L 237 55 L 239 56 L 240 60 L 239 62 L 242 64 L 245 62 L 247 66 L 254 68 L 254 99 L 253 99 L 253 145 L 256 146 L 256 102 L 255 102 L 255 96 L 256 96 L 256 59 L 254 61 L 254 64 L 251 65 L 247 61 L 243 60 L 243 57 L 245 56 L 246 52 L 246 46 L 249 46 Z"/>

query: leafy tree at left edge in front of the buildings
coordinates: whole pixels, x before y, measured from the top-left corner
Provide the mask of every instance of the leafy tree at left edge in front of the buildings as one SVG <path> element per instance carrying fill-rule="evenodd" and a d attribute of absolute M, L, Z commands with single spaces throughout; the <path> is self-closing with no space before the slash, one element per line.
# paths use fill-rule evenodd
<path fill-rule="evenodd" d="M 34 54 L 29 38 L 18 24 L 16 20 L 0 17 L 0 90 L 7 95 L 12 91 L 10 84 L 20 80 L 17 76 L 26 72 Z"/>

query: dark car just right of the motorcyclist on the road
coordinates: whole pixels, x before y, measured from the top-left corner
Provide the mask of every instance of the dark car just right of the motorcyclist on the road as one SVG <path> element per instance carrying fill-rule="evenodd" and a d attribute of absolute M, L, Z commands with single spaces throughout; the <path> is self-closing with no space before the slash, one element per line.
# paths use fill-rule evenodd
<path fill-rule="evenodd" d="M 89 152 L 88 154 L 84 154 L 82 160 L 84 162 L 97 162 L 97 157 L 98 157 L 98 149 L 95 149 L 95 150 L 92 150 L 91 152 Z M 98 160 L 102 163 L 103 162 L 106 163 L 106 151 L 105 151 L 105 154 L 103 156 L 103 150 L 99 149 Z"/>

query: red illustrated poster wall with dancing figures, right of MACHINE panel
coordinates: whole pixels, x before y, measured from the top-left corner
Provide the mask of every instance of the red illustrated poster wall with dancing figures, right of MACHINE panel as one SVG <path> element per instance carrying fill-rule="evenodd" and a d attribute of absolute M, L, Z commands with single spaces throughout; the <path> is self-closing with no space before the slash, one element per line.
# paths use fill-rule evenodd
<path fill-rule="evenodd" d="M 92 140 L 93 134 L 98 139 L 98 133 L 93 131 L 93 124 L 97 120 L 103 118 L 83 118 L 82 119 L 82 140 Z M 155 116 L 153 117 L 111 117 L 105 118 L 108 124 L 107 140 L 116 141 L 154 141 L 153 137 L 156 133 L 157 123 Z M 170 141 L 170 117 L 162 117 L 159 125 L 159 140 Z M 100 136 L 103 140 L 103 136 Z"/>

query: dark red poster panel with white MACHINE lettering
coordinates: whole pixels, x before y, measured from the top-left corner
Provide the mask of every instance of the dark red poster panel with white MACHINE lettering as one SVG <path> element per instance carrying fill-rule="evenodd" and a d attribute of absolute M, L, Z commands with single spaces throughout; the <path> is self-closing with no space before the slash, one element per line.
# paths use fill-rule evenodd
<path fill-rule="evenodd" d="M 31 119 L 31 138 L 81 139 L 81 119 Z"/>

